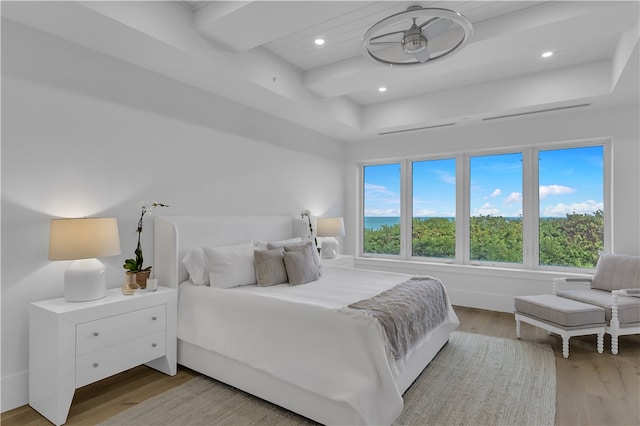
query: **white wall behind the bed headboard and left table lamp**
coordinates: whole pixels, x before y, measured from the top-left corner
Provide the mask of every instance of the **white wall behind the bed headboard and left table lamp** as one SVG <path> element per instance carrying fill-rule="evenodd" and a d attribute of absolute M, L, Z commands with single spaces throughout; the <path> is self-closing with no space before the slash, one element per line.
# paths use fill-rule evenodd
<path fill-rule="evenodd" d="M 215 76 L 212 76 L 215 78 Z M 133 256 L 140 200 L 158 214 L 343 211 L 342 142 L 2 22 L 2 411 L 28 401 L 28 305 L 63 293 L 55 217 L 117 217 Z M 317 179 L 323 176 L 323 179 Z M 153 217 L 143 249 L 153 263 Z"/>

